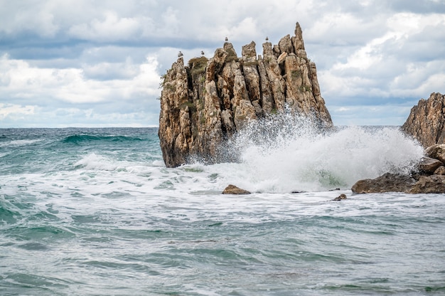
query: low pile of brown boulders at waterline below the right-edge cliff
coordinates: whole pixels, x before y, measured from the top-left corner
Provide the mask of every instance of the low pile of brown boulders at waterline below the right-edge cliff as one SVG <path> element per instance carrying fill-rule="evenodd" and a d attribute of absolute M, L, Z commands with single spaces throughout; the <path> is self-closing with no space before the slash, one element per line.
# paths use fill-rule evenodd
<path fill-rule="evenodd" d="M 445 144 L 434 144 L 425 149 L 426 157 L 417 164 L 412 174 L 387 173 L 375 179 L 357 181 L 354 194 L 404 192 L 407 194 L 445 194 Z"/>

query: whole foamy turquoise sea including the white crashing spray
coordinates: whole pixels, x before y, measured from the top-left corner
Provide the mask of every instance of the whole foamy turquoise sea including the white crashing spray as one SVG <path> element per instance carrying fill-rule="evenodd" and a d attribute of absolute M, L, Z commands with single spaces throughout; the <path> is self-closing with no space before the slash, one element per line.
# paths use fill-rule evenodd
<path fill-rule="evenodd" d="M 350 191 L 422 157 L 397 127 L 263 124 L 227 153 L 168 169 L 156 128 L 0 129 L 0 295 L 445 295 L 445 196 Z"/>

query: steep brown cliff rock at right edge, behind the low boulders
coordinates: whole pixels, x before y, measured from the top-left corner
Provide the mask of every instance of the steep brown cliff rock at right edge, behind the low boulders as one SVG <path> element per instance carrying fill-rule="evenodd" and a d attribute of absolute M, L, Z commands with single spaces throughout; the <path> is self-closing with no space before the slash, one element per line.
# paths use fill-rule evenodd
<path fill-rule="evenodd" d="M 405 133 L 429 147 L 445 143 L 445 95 L 431 93 L 428 100 L 419 100 L 402 125 Z"/>

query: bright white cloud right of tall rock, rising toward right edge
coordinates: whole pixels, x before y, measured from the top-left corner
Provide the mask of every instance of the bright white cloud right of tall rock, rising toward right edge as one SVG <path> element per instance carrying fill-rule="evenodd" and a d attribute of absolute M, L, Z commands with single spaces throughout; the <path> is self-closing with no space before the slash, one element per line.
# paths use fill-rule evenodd
<path fill-rule="evenodd" d="M 333 104 L 344 102 L 345 97 L 365 97 L 363 104 L 379 105 L 385 98 L 419 99 L 444 91 L 444 45 L 414 48 L 419 36 L 428 36 L 431 28 L 438 27 L 445 28 L 444 15 L 393 14 L 379 36 L 355 48 L 344 61 L 321 70 L 323 95 L 333 98 Z"/>

